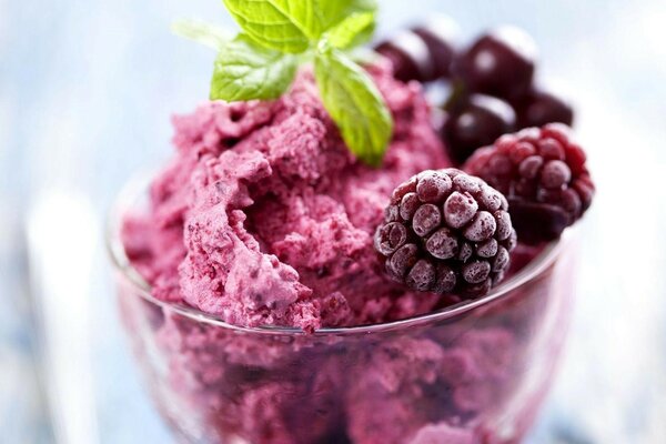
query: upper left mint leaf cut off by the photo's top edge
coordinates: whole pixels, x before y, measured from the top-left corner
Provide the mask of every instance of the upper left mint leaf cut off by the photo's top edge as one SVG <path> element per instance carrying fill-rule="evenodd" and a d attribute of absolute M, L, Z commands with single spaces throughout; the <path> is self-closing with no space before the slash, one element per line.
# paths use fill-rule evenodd
<path fill-rule="evenodd" d="M 303 21 L 313 13 L 310 0 L 223 0 L 241 28 L 259 44 L 287 53 L 310 47 Z"/>

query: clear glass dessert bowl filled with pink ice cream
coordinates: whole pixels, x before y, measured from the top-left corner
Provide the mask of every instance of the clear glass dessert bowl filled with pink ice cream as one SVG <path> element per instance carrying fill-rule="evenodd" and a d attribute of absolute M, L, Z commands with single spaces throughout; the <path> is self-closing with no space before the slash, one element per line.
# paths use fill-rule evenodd
<path fill-rule="evenodd" d="M 518 443 L 554 375 L 573 299 L 571 235 L 486 296 L 312 334 L 163 302 L 109 225 L 122 321 L 152 397 L 189 443 Z"/>

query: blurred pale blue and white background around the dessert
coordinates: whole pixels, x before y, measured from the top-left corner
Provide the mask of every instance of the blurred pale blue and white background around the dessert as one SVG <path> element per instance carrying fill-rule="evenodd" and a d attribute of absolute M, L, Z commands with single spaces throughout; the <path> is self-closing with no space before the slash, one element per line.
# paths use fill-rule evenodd
<path fill-rule="evenodd" d="M 582 229 L 578 310 L 535 443 L 666 442 L 666 4 L 663 0 L 383 1 L 387 32 L 428 11 L 471 37 L 512 22 L 579 104 L 599 195 Z M 137 169 L 170 154 L 169 117 L 206 95 L 212 53 L 169 33 L 220 1 L 0 0 L 0 442 L 49 442 L 17 252 L 40 190 L 84 192 L 100 219 Z M 635 226 L 639 226 L 636 233 Z M 169 442 L 119 330 L 99 252 L 92 316 L 103 443 Z"/>

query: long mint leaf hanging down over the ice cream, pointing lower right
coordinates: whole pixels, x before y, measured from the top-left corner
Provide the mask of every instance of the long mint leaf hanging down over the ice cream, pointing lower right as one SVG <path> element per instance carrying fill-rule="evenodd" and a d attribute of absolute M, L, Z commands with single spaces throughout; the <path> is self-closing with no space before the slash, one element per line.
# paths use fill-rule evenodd
<path fill-rule="evenodd" d="M 316 53 L 314 75 L 324 107 L 349 149 L 379 167 L 393 133 L 393 120 L 370 75 L 332 48 Z"/>

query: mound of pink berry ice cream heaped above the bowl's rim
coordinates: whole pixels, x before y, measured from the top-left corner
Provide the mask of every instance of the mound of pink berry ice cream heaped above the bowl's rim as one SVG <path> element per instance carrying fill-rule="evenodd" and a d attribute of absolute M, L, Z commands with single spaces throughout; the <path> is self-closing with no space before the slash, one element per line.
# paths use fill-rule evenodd
<path fill-rule="evenodd" d="M 313 331 L 412 316 L 438 297 L 384 276 L 372 236 L 393 188 L 448 161 L 421 87 L 372 69 L 394 121 L 381 169 L 354 160 L 311 72 L 273 102 L 209 102 L 176 117 L 171 164 L 147 214 L 128 219 L 130 259 L 165 301 L 239 325 Z"/>

